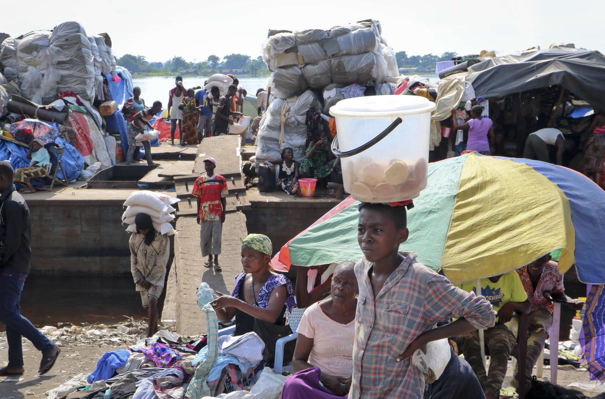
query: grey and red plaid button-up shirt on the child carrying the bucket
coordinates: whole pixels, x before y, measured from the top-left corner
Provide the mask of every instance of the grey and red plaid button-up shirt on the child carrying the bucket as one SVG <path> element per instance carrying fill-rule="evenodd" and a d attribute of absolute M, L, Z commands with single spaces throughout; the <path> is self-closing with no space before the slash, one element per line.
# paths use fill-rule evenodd
<path fill-rule="evenodd" d="M 416 262 L 416 253 L 388 277 L 376 299 L 368 278 L 373 263 L 355 265 L 359 299 L 353 346 L 350 399 L 422 398 L 422 373 L 410 358 L 396 362 L 410 343 L 437 322 L 464 317 L 476 328 L 495 323 L 491 304 L 454 287 L 448 279 Z"/>

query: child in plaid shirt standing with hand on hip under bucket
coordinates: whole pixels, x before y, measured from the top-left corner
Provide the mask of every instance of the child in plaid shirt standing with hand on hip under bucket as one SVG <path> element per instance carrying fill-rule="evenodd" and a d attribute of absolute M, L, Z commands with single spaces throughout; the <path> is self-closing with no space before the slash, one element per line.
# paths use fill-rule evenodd
<path fill-rule="evenodd" d="M 399 244 L 409 235 L 406 225 L 404 206 L 359 206 L 358 242 L 364 258 L 355 265 L 359 299 L 352 399 L 423 397 L 424 377 L 410 364 L 416 349 L 425 351 L 431 341 L 495 322 L 495 312 L 485 298 L 454 287 L 416 262 L 416 253 L 399 252 Z M 437 322 L 451 317 L 459 319 L 436 328 Z M 469 378 L 477 383 L 474 375 Z M 468 389 L 468 384 L 460 386 Z M 479 394 L 483 397 L 480 389 Z"/>

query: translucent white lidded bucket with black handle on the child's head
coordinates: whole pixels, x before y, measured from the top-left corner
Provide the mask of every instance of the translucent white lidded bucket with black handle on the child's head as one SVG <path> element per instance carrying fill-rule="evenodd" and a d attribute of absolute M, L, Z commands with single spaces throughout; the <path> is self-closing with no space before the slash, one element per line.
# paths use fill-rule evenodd
<path fill-rule="evenodd" d="M 370 203 L 416 198 L 427 187 L 434 109 L 434 103 L 416 96 L 355 97 L 330 108 L 338 131 L 332 149 L 341 158 L 345 190 Z"/>

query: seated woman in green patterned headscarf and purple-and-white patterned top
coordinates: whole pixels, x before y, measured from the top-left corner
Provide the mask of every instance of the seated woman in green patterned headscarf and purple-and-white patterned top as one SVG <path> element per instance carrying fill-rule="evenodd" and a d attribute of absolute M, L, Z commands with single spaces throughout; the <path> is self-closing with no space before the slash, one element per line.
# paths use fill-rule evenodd
<path fill-rule="evenodd" d="M 265 343 L 267 362 L 275 357 L 274 333 L 289 329 L 284 314 L 292 311 L 294 297 L 292 283 L 283 274 L 269 268 L 272 244 L 269 237 L 249 234 L 241 242 L 241 265 L 244 272 L 235 277 L 231 296 L 216 292 L 218 299 L 212 302 L 218 320 L 230 322 L 235 316 L 234 336 L 254 331 Z"/>

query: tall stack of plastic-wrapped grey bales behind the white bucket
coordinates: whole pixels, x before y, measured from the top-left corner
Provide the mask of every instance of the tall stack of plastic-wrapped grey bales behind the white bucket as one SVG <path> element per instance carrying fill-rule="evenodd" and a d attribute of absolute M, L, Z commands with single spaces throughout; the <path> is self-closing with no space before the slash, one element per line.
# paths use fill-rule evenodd
<path fill-rule="evenodd" d="M 327 126 L 330 107 L 342 99 L 393 94 L 399 77 L 393 50 L 378 21 L 305 31 L 269 31 L 263 59 L 272 74 L 272 100 L 260 122 L 257 164 L 292 148 L 305 157 L 316 115 Z M 327 131 L 327 127 L 324 127 Z"/>

